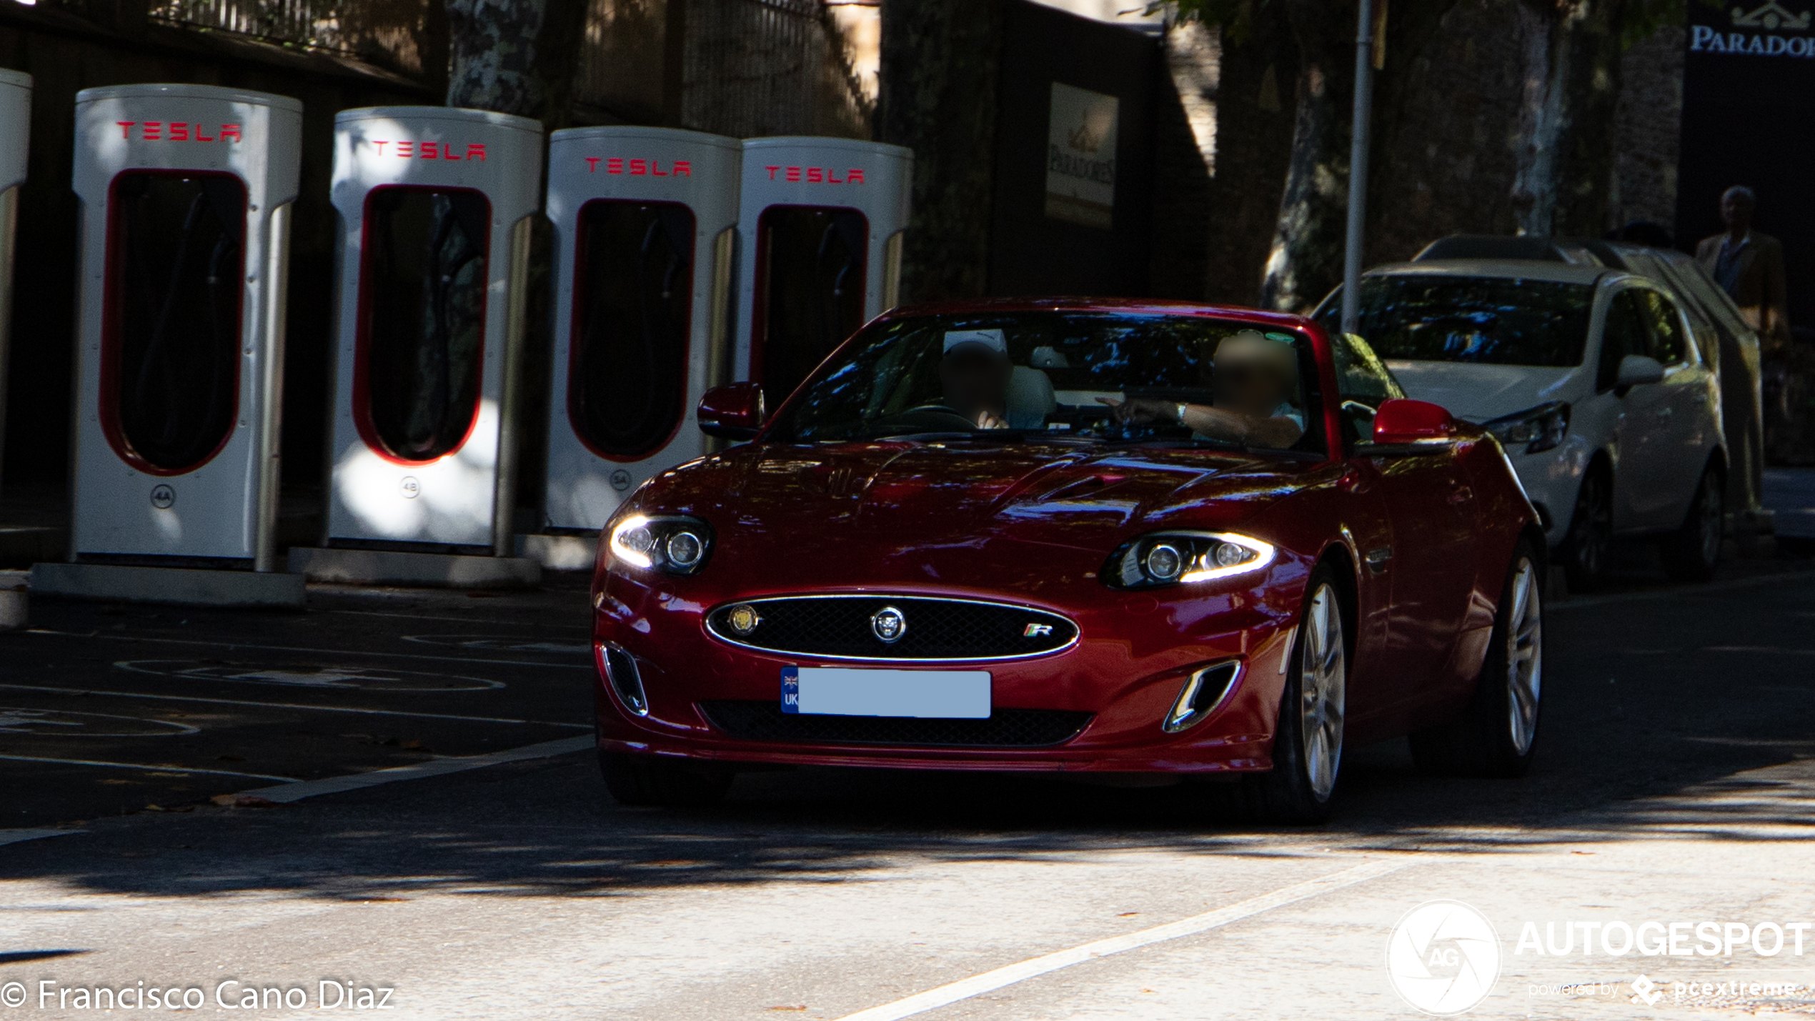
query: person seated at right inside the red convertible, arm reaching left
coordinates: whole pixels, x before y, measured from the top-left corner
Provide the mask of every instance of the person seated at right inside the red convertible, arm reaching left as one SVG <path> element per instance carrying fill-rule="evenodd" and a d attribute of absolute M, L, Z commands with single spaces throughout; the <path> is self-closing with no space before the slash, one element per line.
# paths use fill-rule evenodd
<path fill-rule="evenodd" d="M 1214 406 L 1154 397 L 1098 401 L 1109 404 L 1118 423 L 1182 424 L 1196 435 L 1243 446 L 1285 450 L 1305 435 L 1305 413 L 1294 406 L 1298 352 L 1290 339 L 1276 341 L 1258 330 L 1234 332 L 1216 346 L 1214 368 Z"/>

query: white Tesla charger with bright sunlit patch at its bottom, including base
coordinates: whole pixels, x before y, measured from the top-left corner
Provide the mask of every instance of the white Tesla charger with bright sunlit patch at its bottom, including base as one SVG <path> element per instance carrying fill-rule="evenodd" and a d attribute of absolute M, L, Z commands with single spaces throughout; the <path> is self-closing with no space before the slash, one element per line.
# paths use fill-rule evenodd
<path fill-rule="evenodd" d="M 534 580 L 535 564 L 508 553 L 541 172 L 534 120 L 450 107 L 334 118 L 327 548 L 292 549 L 292 568 L 350 582 Z"/>

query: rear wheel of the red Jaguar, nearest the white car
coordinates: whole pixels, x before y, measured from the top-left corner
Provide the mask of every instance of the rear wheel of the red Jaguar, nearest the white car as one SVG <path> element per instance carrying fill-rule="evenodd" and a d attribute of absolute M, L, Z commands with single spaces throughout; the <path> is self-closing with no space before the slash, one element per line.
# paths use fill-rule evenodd
<path fill-rule="evenodd" d="M 1468 705 L 1456 720 L 1410 736 L 1421 773 L 1510 780 L 1532 769 L 1545 695 L 1543 569 L 1532 542 L 1521 539 Z"/>

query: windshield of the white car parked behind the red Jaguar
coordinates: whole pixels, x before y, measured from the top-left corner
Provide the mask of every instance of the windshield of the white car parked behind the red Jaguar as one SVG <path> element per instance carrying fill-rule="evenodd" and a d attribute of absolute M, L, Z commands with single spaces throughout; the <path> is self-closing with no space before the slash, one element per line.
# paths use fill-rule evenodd
<path fill-rule="evenodd" d="M 1566 368 L 1583 363 L 1594 287 L 1546 279 L 1376 276 L 1356 332 L 1383 359 Z M 1320 319 L 1336 330 L 1341 301 Z"/>

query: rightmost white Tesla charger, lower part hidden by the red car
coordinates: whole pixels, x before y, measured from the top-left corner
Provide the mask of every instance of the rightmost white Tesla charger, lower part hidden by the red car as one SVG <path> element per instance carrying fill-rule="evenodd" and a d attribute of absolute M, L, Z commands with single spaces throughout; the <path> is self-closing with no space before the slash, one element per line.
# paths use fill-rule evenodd
<path fill-rule="evenodd" d="M 831 348 L 893 308 L 913 151 L 844 138 L 744 141 L 737 377 L 773 410 Z"/>

